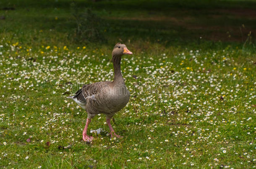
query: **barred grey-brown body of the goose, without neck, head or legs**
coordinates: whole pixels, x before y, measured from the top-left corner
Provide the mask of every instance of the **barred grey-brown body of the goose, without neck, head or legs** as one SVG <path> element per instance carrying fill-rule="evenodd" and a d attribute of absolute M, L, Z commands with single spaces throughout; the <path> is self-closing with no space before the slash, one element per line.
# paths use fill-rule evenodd
<path fill-rule="evenodd" d="M 88 117 L 106 114 L 111 118 L 126 106 L 130 93 L 125 84 L 114 85 L 110 81 L 104 81 L 84 85 L 72 98 L 86 110 Z"/>

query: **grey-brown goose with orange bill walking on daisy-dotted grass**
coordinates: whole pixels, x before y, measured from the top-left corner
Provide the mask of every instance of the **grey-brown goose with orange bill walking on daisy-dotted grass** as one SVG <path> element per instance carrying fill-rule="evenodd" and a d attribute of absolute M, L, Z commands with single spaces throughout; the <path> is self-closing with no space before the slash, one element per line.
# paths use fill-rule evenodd
<path fill-rule="evenodd" d="M 96 114 L 105 114 L 107 125 L 110 128 L 111 138 L 113 136 L 120 138 L 110 124 L 110 119 L 115 113 L 126 106 L 130 99 L 130 93 L 125 86 L 121 73 L 122 55 L 132 55 L 125 44 L 117 43 L 112 50 L 112 61 L 114 66 L 114 80 L 102 81 L 91 84 L 85 84 L 74 96 L 67 98 L 73 99 L 79 106 L 87 112 L 86 125 L 83 131 L 83 140 L 90 142 L 94 138 L 87 135 L 87 128 L 91 119 Z"/>

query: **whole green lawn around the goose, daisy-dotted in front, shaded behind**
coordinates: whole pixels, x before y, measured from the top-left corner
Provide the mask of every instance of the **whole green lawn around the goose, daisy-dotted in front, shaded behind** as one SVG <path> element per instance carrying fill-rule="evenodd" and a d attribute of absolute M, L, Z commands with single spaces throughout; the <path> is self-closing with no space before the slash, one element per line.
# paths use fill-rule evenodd
<path fill-rule="evenodd" d="M 255 3 L 136 2 L 78 1 L 106 24 L 108 43 L 91 44 L 73 41 L 68 1 L 1 2 L 15 8 L 0 10 L 1 168 L 256 166 Z M 86 112 L 65 96 L 113 79 L 119 41 L 134 53 L 121 65 L 131 99 L 112 122 L 124 137 L 110 139 L 101 115 L 89 130 L 105 132 L 86 144 Z"/>

